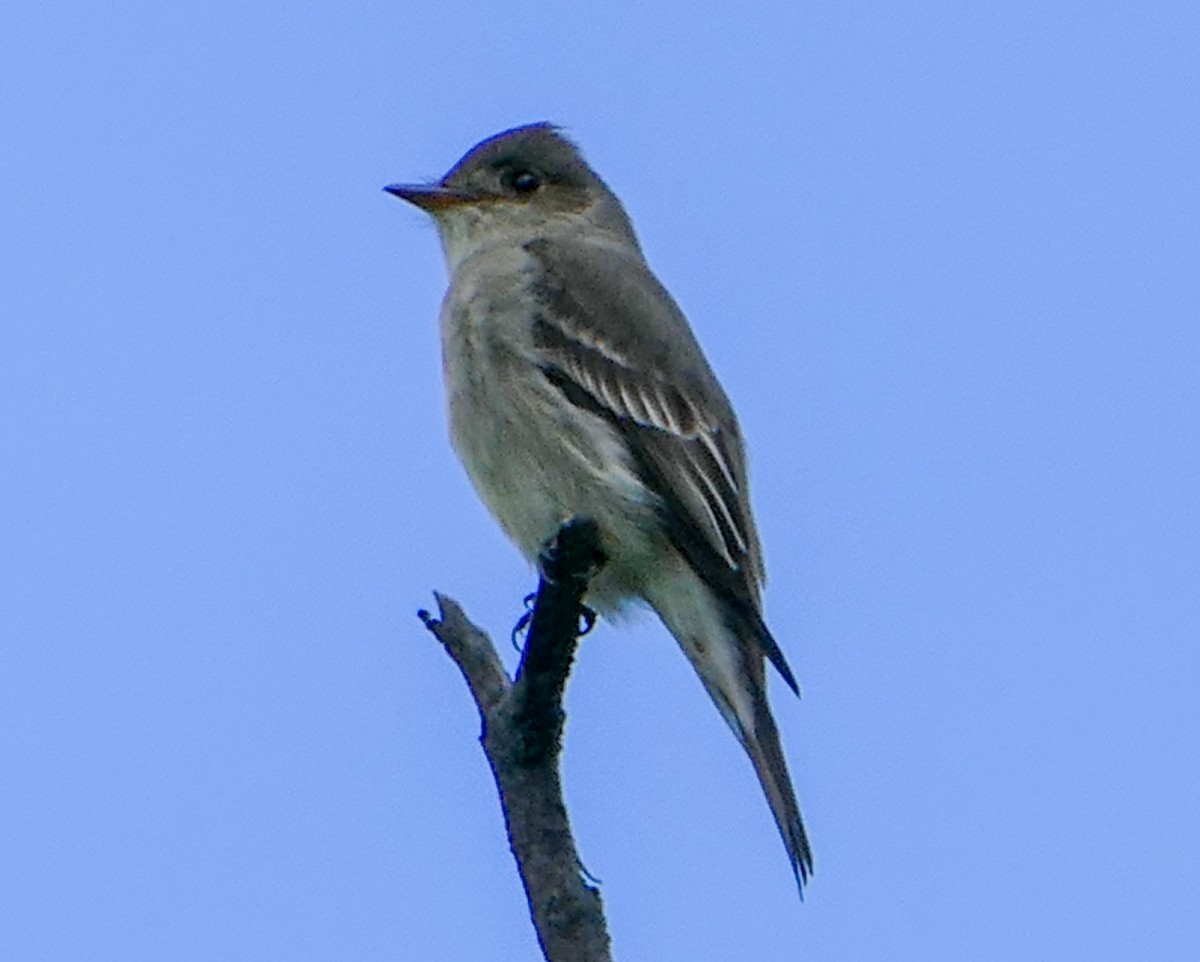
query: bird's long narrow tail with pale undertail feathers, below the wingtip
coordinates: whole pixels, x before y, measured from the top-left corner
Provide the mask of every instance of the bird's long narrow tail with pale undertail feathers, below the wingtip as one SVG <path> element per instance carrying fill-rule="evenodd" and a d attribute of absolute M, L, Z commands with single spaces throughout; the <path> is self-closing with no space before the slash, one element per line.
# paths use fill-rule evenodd
<path fill-rule="evenodd" d="M 766 627 L 761 619 L 749 624 L 731 612 L 704 590 L 698 578 L 688 585 L 691 590 L 682 588 L 676 581 L 673 590 L 648 594 L 647 600 L 679 642 L 709 697 L 750 756 L 803 897 L 804 884 L 812 874 L 812 849 L 767 702 L 763 643 L 758 637 Z M 774 645 L 773 639 L 770 644 Z"/>

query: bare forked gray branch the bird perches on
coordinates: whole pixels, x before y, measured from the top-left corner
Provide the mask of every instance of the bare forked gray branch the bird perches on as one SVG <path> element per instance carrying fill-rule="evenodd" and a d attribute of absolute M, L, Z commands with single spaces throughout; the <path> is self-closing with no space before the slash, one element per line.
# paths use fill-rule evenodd
<path fill-rule="evenodd" d="M 491 639 L 436 594 L 419 615 L 454 659 L 479 707 L 484 753 L 504 810 L 509 846 L 547 962 L 611 962 L 600 894 L 584 882 L 558 771 L 563 692 L 578 643 L 583 593 L 604 564 L 593 522 L 572 519 L 542 553 L 538 600 L 510 680 Z"/>

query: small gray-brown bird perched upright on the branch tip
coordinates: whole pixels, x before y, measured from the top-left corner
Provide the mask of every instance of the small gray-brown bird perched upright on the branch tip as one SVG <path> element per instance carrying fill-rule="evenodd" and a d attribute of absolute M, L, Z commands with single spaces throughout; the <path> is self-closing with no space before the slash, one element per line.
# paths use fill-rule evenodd
<path fill-rule="evenodd" d="M 530 561 L 564 521 L 596 522 L 588 603 L 658 612 L 750 756 L 803 891 L 812 852 L 766 660 L 798 689 L 762 619 L 742 434 L 624 208 L 548 124 L 385 190 L 442 238 L 450 432 L 480 498 Z"/>

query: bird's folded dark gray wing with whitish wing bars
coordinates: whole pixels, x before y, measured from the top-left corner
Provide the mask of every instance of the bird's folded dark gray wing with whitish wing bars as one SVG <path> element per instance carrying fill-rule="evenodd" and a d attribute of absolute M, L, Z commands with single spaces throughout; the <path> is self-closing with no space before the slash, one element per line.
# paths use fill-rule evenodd
<path fill-rule="evenodd" d="M 677 549 L 794 689 L 760 612 L 762 549 L 737 419 L 679 308 L 640 259 L 559 241 L 526 248 L 540 269 L 544 373 L 620 433 Z"/>

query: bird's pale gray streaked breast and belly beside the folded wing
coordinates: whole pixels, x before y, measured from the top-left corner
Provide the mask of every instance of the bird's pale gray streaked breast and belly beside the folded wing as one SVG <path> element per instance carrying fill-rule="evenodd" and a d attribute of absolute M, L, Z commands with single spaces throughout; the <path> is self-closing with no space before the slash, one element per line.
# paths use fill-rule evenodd
<path fill-rule="evenodd" d="M 520 247 L 464 261 L 442 312 L 450 432 L 481 500 L 527 558 L 570 517 L 613 543 L 654 529 L 653 498 L 619 435 L 546 378 L 534 265 Z M 617 561 L 619 566 L 619 559 Z"/>

